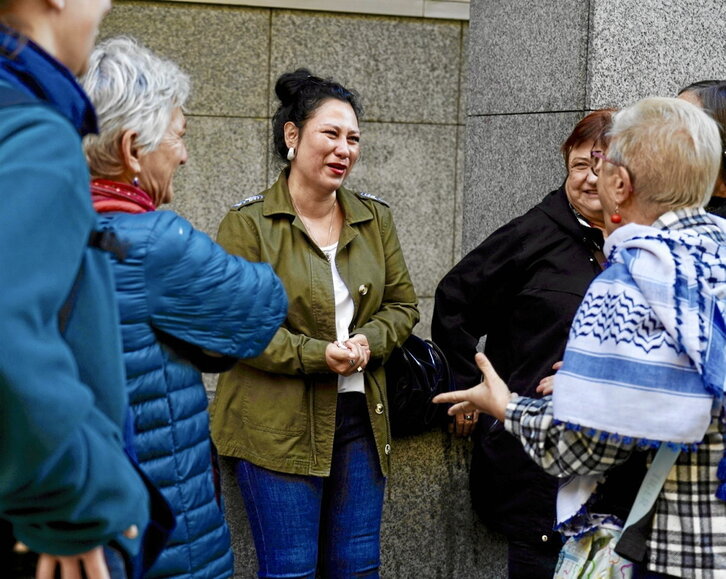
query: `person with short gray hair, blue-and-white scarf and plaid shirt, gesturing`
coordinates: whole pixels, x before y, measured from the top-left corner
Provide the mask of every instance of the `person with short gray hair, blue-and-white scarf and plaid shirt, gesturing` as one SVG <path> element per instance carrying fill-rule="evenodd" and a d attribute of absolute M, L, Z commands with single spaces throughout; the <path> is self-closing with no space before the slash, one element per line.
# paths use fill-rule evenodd
<path fill-rule="evenodd" d="M 637 572 L 716 577 L 726 569 L 726 221 L 703 207 L 721 163 L 718 127 L 688 102 L 650 98 L 616 113 L 610 136 L 592 164 L 609 267 L 573 322 L 553 396 L 512 395 L 478 354 L 484 382 L 436 401 L 495 416 L 547 472 L 581 475 L 558 498 L 570 535 L 612 514 L 600 495 L 614 466 L 680 449 Z"/>

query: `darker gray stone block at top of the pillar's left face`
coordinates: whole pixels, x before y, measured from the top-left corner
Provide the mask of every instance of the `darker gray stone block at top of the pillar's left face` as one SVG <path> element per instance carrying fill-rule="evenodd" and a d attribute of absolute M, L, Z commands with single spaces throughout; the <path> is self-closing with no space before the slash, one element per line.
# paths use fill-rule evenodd
<path fill-rule="evenodd" d="M 610 2 L 602 4 L 610 10 Z M 581 109 L 588 5 L 581 0 L 473 1 L 469 114 Z"/>

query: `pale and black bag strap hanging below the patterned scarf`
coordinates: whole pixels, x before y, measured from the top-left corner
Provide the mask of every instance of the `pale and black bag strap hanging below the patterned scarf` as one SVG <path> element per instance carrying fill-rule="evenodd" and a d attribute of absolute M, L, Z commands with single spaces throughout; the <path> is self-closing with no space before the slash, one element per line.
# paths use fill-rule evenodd
<path fill-rule="evenodd" d="M 650 534 L 655 502 L 680 453 L 680 449 L 661 444 L 648 472 L 645 473 L 620 539 L 615 545 L 615 552 L 629 561 L 642 563 L 645 560 L 645 546 Z"/>

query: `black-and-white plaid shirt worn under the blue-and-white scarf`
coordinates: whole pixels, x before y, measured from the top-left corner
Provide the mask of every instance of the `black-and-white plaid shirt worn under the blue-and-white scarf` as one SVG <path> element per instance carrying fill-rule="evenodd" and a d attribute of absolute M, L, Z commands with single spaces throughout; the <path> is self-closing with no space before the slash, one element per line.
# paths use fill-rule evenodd
<path fill-rule="evenodd" d="M 568 430 L 552 415 L 552 399 L 515 398 L 506 429 L 548 473 L 596 474 L 623 462 L 634 443 Z M 719 411 L 694 452 L 681 452 L 656 503 L 648 541 L 648 570 L 694 579 L 726 578 L 726 503 L 716 498 L 716 468 L 724 452 Z M 602 439 L 601 439 L 602 438 Z M 648 451 L 653 454 L 653 451 Z"/>

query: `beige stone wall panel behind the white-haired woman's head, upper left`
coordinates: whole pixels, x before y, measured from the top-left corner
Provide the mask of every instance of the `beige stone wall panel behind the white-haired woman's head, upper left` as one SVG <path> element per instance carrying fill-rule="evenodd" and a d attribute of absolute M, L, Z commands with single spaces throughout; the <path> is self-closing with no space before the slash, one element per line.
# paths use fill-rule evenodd
<path fill-rule="evenodd" d="M 115 2 L 102 37 L 127 34 L 177 62 L 192 79 L 195 114 L 267 113 L 269 10 Z"/>

